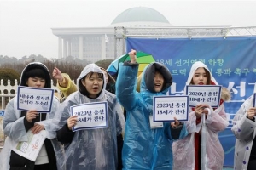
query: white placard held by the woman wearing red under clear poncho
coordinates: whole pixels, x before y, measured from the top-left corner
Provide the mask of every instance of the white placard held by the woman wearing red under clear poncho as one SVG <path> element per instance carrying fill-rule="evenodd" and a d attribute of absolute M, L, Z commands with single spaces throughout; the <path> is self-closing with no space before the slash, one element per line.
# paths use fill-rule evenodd
<path fill-rule="evenodd" d="M 189 95 L 189 106 L 195 107 L 198 104 L 207 104 L 212 107 L 218 107 L 221 95 L 221 86 L 219 85 L 188 85 L 186 94 Z"/>

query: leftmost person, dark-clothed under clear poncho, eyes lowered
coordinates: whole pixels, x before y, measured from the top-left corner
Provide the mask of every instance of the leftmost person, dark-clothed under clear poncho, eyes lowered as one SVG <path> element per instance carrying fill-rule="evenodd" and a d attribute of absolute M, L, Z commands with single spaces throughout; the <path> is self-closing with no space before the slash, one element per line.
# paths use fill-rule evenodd
<path fill-rule="evenodd" d="M 39 62 L 26 65 L 20 76 L 20 86 L 51 89 L 48 68 Z M 36 98 L 37 96 L 31 95 L 30 97 Z M 32 108 L 30 111 L 17 110 L 17 103 L 19 103 L 17 99 L 18 96 L 15 96 L 9 101 L 3 116 L 4 134 L 7 139 L 1 151 L 1 169 L 56 170 L 58 167 L 56 157 L 61 156 L 62 150 L 61 144 L 55 139 L 55 131 L 52 131 L 51 120 L 55 116 L 59 101 L 53 97 L 51 110 L 39 113 Z M 25 147 L 26 144 L 30 144 L 31 136 L 36 136 L 36 134 L 43 131 L 46 131 L 45 137 L 38 139 L 36 144 L 32 146 L 32 150 L 38 150 L 38 144 L 41 143 L 41 149 L 38 152 L 38 156 L 35 157 L 35 161 L 26 158 L 29 156 L 20 156 L 17 154 L 19 152 L 14 151 L 17 144 L 24 143 L 23 146 Z M 53 146 L 56 150 L 54 150 Z M 22 148 L 22 151 L 26 153 L 25 148 Z"/>

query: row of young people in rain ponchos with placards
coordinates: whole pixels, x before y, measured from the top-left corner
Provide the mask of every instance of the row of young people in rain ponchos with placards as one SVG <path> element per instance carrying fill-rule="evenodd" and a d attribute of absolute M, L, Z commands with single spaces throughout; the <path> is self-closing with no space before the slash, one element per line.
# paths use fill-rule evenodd
<path fill-rule="evenodd" d="M 63 94 L 53 99 L 49 113 L 17 110 L 17 98 L 11 99 L 3 116 L 7 136 L 0 157 L 3 170 L 221 170 L 224 150 L 218 132 L 229 125 L 224 101 L 230 92 L 222 89 L 218 108 L 200 103 L 189 108 L 186 122 L 163 122 L 152 126 L 153 97 L 165 96 L 172 85 L 172 74 L 158 62 L 146 66 L 137 92 L 138 65 L 136 50 L 129 53 L 131 61 L 120 65 L 117 81 L 103 68 L 90 64 L 84 67 L 75 85 L 67 74 L 57 68 L 52 76 Z M 51 88 L 50 73 L 38 62 L 26 65 L 20 86 Z M 192 65 L 186 85 L 218 85 L 207 65 Z M 78 116 L 71 116 L 75 105 L 107 102 L 108 127 L 73 131 Z M 256 164 L 255 112 L 253 97 L 241 105 L 234 118 L 236 135 L 235 169 L 253 169 Z M 124 117 L 124 110 L 126 117 Z M 211 114 L 209 113 L 211 112 Z M 205 115 L 207 152 L 201 165 L 202 116 Z M 30 161 L 12 150 L 12 144 L 27 141 L 27 131 L 47 132 L 36 161 Z"/>

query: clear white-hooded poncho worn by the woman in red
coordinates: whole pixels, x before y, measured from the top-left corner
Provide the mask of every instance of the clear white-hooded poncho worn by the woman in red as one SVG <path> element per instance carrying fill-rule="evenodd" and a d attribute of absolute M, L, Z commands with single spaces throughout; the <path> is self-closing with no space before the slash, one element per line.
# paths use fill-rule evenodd
<path fill-rule="evenodd" d="M 195 71 L 199 67 L 204 67 L 209 71 L 207 65 L 198 61 L 191 67 L 189 78 L 186 85 L 189 85 Z M 210 71 L 209 71 L 210 72 Z M 211 74 L 211 72 L 210 72 Z M 215 78 L 212 77 L 212 84 L 218 85 Z M 213 111 L 210 108 L 211 114 L 206 119 L 207 133 L 207 170 L 222 170 L 224 164 L 224 150 L 218 139 L 218 132 L 221 132 L 229 125 L 229 122 L 224 111 L 224 104 L 221 104 Z M 196 125 L 195 111 L 189 109 L 189 120 L 185 123 L 189 135 L 184 139 L 173 142 L 173 162 L 175 170 L 194 170 L 195 169 L 195 133 L 199 133 L 202 127 L 202 121 Z M 199 165 L 201 167 L 201 165 Z"/>

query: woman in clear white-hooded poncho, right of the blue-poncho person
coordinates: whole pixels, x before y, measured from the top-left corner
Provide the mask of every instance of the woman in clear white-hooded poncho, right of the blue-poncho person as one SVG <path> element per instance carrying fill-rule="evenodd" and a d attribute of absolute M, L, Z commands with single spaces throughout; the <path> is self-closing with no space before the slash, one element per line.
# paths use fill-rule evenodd
<path fill-rule="evenodd" d="M 190 69 L 186 85 L 218 85 L 218 82 L 212 77 L 207 65 L 201 61 L 196 61 Z M 189 120 L 185 123 L 189 135 L 184 139 L 175 141 L 172 145 L 173 168 L 175 170 L 199 170 L 201 167 L 202 169 L 215 170 L 223 168 L 224 150 L 219 142 L 218 132 L 223 131 L 229 125 L 223 104 L 229 99 L 230 91 L 222 88 L 218 108 L 212 108 L 201 102 L 190 108 Z M 206 116 L 205 120 L 202 120 L 203 114 Z M 204 134 L 202 133 L 202 126 L 206 128 Z M 206 141 L 201 140 L 202 137 L 206 137 Z M 206 143 L 206 148 L 201 147 L 203 142 Z M 206 156 L 201 156 L 203 149 L 206 150 Z M 206 165 L 202 165 L 201 158 L 206 158 Z"/>

